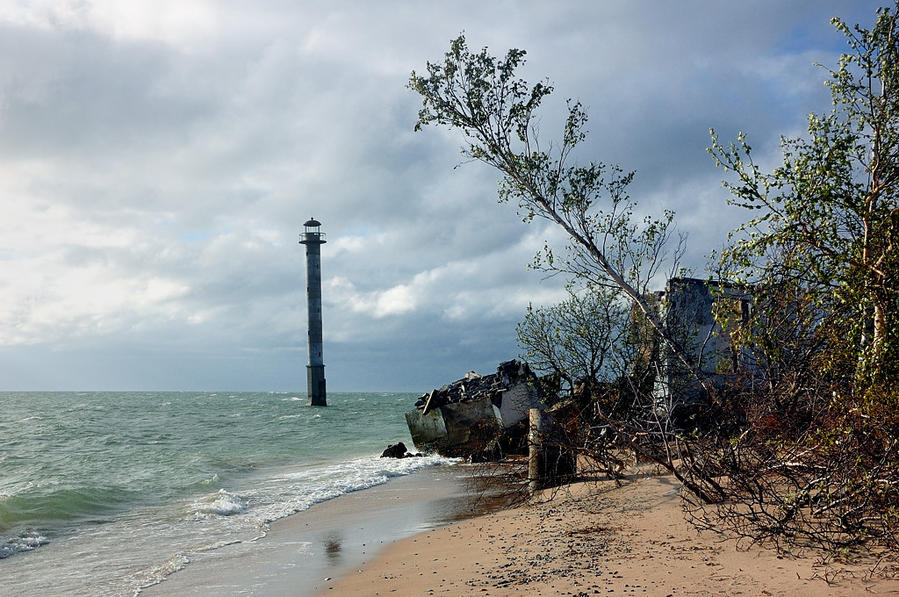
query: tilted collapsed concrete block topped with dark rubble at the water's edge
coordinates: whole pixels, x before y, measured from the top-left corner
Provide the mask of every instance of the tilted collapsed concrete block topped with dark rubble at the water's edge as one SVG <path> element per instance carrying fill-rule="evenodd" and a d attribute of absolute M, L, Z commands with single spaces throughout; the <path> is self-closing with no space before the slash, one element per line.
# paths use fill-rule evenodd
<path fill-rule="evenodd" d="M 527 363 L 505 361 L 496 373 L 469 372 L 432 390 L 406 413 L 416 448 L 443 456 L 483 453 L 503 431 L 526 427 L 528 410 L 545 408 L 555 398 Z"/>

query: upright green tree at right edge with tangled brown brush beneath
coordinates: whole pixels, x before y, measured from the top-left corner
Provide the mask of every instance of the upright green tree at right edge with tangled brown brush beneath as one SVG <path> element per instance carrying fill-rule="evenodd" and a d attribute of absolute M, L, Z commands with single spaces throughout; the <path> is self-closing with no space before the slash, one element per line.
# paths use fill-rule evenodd
<path fill-rule="evenodd" d="M 899 3 L 828 70 L 833 109 L 764 172 L 745 135 L 710 149 L 755 217 L 724 251 L 754 286 L 755 383 L 733 437 L 699 446 L 726 498 L 700 525 L 785 549 L 899 548 Z M 704 479 L 697 482 L 702 485 Z"/>

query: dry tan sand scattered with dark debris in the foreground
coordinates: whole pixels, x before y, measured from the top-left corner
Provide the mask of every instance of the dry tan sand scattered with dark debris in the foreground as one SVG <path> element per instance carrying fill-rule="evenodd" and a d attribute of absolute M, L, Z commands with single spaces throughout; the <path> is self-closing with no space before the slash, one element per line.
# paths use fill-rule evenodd
<path fill-rule="evenodd" d="M 386 547 L 320 595 L 899 594 L 899 565 L 738 550 L 683 517 L 677 482 L 580 484 Z"/>

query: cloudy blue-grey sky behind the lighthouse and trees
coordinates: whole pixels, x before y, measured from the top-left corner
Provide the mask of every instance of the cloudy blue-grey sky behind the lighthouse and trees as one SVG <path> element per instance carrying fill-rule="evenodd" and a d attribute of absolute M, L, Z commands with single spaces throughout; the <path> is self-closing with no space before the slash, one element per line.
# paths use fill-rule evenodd
<path fill-rule="evenodd" d="M 425 392 L 521 352 L 564 280 L 549 223 L 496 202 L 458 134 L 414 132 L 411 71 L 464 32 L 527 51 L 590 115 L 584 159 L 677 212 L 685 263 L 747 214 L 706 152 L 829 109 L 830 25 L 867 0 L 0 0 L 0 390 L 297 391 L 302 224 L 322 222 L 329 391 Z"/>

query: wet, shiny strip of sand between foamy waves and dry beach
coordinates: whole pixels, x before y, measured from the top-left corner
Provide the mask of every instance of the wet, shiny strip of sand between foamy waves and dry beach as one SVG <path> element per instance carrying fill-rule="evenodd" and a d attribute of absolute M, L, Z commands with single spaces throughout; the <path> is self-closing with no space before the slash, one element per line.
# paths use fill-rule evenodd
<path fill-rule="evenodd" d="M 479 514 L 471 476 L 457 464 L 426 467 L 315 504 L 258 540 L 187 554 L 183 569 L 140 595 L 314 595 L 386 545 Z"/>

